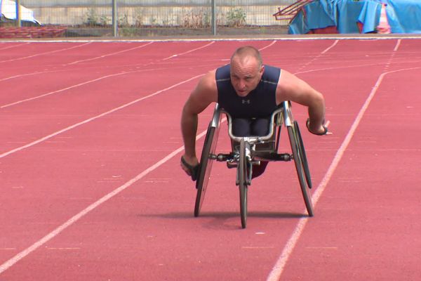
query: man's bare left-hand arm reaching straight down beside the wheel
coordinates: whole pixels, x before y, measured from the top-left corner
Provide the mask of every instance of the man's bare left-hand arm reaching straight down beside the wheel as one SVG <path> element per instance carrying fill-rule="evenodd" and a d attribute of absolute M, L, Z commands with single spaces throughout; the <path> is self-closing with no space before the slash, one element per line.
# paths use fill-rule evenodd
<path fill-rule="evenodd" d="M 181 131 L 185 145 L 185 154 L 183 157 L 187 163 L 193 166 L 198 163 L 196 157 L 198 115 L 205 110 L 210 103 L 216 102 L 217 100 L 218 89 L 216 87 L 215 71 L 212 71 L 201 78 L 199 84 L 197 84 L 196 88 L 192 91 L 182 109 Z"/>

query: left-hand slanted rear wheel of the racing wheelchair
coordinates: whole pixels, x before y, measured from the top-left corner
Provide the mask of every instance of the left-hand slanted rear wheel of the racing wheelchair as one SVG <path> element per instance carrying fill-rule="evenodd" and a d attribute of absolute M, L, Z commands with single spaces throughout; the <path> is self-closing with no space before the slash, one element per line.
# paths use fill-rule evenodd
<path fill-rule="evenodd" d="M 205 142 L 203 143 L 203 150 L 200 157 L 199 175 L 196 180 L 196 202 L 194 204 L 194 216 L 199 216 L 201 205 L 205 197 L 206 187 L 208 186 L 208 180 L 210 178 L 210 170 L 214 159 L 211 155 L 215 154 L 216 143 L 218 143 L 218 134 L 220 126 L 212 126 L 212 123 L 208 126 L 206 132 Z"/>

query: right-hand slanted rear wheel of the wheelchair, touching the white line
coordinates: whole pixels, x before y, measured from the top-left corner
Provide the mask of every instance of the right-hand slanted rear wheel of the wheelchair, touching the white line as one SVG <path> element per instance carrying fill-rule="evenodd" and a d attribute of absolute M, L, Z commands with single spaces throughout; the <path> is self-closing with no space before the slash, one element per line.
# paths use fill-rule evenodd
<path fill-rule="evenodd" d="M 295 131 L 294 126 L 288 126 L 288 136 L 290 139 L 291 150 L 293 151 L 293 158 L 295 162 L 295 169 L 297 170 L 298 181 L 300 181 L 300 187 L 302 192 L 302 197 L 304 198 L 305 207 L 307 208 L 307 213 L 309 216 L 313 216 L 313 203 L 312 195 L 310 194 L 309 188 L 307 188 L 307 181 L 305 180 L 305 172 L 302 165 L 302 155 L 299 150 L 299 141 L 297 138 L 297 131 Z"/>

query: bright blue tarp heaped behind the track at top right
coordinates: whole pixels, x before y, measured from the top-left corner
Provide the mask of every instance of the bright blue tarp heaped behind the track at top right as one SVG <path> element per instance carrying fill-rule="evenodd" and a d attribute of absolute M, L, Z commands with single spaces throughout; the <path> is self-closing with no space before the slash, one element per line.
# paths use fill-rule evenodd
<path fill-rule="evenodd" d="M 336 27 L 339 33 L 375 32 L 380 22 L 382 3 L 392 33 L 421 33 L 420 0 L 315 0 L 306 4 L 290 22 L 290 34 Z"/>

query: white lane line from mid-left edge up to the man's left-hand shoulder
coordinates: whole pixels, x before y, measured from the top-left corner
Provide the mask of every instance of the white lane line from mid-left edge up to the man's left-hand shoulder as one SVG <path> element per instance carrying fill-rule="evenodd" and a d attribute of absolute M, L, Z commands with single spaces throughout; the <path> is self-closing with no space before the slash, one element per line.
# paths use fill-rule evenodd
<path fill-rule="evenodd" d="M 137 100 L 133 100 L 133 101 L 131 101 L 130 103 L 126 103 L 126 104 L 121 105 L 121 106 L 119 106 L 119 107 L 116 107 L 116 108 L 114 108 L 114 109 L 112 109 L 112 110 L 109 110 L 109 111 L 107 111 L 107 112 L 101 113 L 100 115 L 96 115 L 96 116 L 91 117 L 91 118 L 89 118 L 89 119 L 86 119 L 86 120 L 84 120 L 84 121 L 82 121 L 82 122 L 79 122 L 79 123 L 73 124 L 72 126 L 68 126 L 68 127 L 67 127 L 67 128 L 65 128 L 65 129 L 61 129 L 60 131 L 56 131 L 55 133 L 51 133 L 51 134 L 50 134 L 50 135 L 48 135 L 48 136 L 44 136 L 43 138 L 39 138 L 38 140 L 33 141 L 32 143 L 28 143 L 28 144 L 26 144 L 26 145 L 22 145 L 22 146 L 20 146 L 19 148 L 15 148 L 15 149 L 13 149 L 13 150 L 9 150 L 8 152 L 4 152 L 4 153 L 0 154 L 0 158 L 6 157 L 7 155 L 11 155 L 11 154 L 12 154 L 12 153 L 14 153 L 14 152 L 18 152 L 18 151 L 20 151 L 20 150 L 24 150 L 25 148 L 30 148 L 31 146 L 36 145 L 36 144 L 38 144 L 38 143 L 41 143 L 41 142 L 43 142 L 43 141 L 46 141 L 46 140 L 48 140 L 49 138 L 53 138 L 54 136 L 57 136 L 57 135 L 58 135 L 58 134 L 60 134 L 60 133 L 64 133 L 65 131 L 69 131 L 69 130 L 71 130 L 71 129 L 74 129 L 74 128 L 78 127 L 78 126 L 81 126 L 81 125 L 83 125 L 83 124 L 86 124 L 86 123 L 88 123 L 88 122 L 91 122 L 91 121 L 93 121 L 93 120 L 95 120 L 95 119 L 98 119 L 98 118 L 100 118 L 100 117 L 104 117 L 105 115 L 109 115 L 109 114 L 110 114 L 110 113 L 112 113 L 112 112 L 116 112 L 117 110 L 121 110 L 121 109 L 123 109 L 124 107 L 128 107 L 128 106 L 130 106 L 130 105 L 133 105 L 133 104 L 135 104 L 135 103 L 138 103 L 138 102 L 140 102 L 141 100 L 145 100 L 145 99 L 147 99 L 147 98 L 152 98 L 153 96 L 156 96 L 156 95 L 158 95 L 159 93 L 162 93 L 162 92 L 164 92 L 164 91 L 168 91 L 168 90 L 170 90 L 170 89 L 173 89 L 173 88 L 175 88 L 175 87 L 177 87 L 177 86 L 180 86 L 180 85 L 182 85 L 182 84 L 185 84 L 185 83 L 187 83 L 187 82 L 189 82 L 189 81 L 192 81 L 192 80 L 194 80 L 194 79 L 196 79 L 196 78 L 198 78 L 198 77 L 201 77 L 201 76 L 203 76 L 203 74 L 196 75 L 196 76 L 194 76 L 194 77 L 192 77 L 192 78 L 189 78 L 189 79 L 187 79 L 187 80 L 184 80 L 184 81 L 181 81 L 181 82 L 179 82 L 179 83 L 177 83 L 177 84 L 174 84 L 173 86 L 169 86 L 169 87 L 168 87 L 168 88 L 166 88 L 166 89 L 162 89 L 162 90 L 156 91 L 155 93 L 151 93 L 151 94 L 150 94 L 150 95 L 148 95 L 148 96 L 144 96 L 144 97 L 142 97 L 142 98 L 138 98 Z"/>

